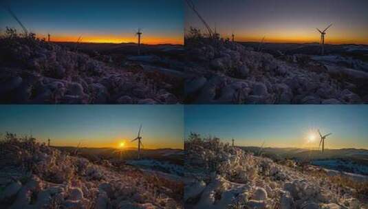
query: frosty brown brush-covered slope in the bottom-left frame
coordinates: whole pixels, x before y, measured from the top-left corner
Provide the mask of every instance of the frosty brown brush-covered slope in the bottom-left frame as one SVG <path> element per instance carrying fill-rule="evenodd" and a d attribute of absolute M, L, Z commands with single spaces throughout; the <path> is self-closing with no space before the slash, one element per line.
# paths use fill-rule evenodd
<path fill-rule="evenodd" d="M 183 208 L 180 180 L 14 135 L 0 147 L 0 208 Z"/>

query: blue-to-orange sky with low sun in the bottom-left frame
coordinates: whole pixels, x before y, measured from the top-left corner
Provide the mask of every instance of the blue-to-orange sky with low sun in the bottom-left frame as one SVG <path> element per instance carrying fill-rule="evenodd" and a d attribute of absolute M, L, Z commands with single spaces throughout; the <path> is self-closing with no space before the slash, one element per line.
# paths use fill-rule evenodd
<path fill-rule="evenodd" d="M 182 105 L 0 105 L 0 133 L 32 135 L 55 146 L 183 148 Z"/>

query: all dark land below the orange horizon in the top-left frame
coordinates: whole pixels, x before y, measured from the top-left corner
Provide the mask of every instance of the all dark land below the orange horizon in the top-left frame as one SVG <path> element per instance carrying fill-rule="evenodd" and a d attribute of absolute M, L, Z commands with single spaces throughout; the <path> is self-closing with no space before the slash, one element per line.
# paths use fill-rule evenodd
<path fill-rule="evenodd" d="M 48 43 L 8 31 L 0 39 L 3 104 L 177 104 L 180 45 Z"/>

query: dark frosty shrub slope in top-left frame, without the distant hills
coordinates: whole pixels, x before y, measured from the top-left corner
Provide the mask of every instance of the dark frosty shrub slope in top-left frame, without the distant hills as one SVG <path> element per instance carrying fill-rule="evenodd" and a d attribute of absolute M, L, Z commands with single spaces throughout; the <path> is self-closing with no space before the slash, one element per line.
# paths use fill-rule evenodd
<path fill-rule="evenodd" d="M 180 72 L 155 65 L 115 66 L 74 47 L 0 37 L 0 101 L 32 104 L 176 104 Z M 136 59 L 147 60 L 144 56 Z M 139 69 L 139 70 L 138 70 Z M 147 71 L 151 73 L 147 73 Z M 160 73 L 163 72 L 164 74 Z M 154 74 L 154 76 L 153 76 Z"/>

